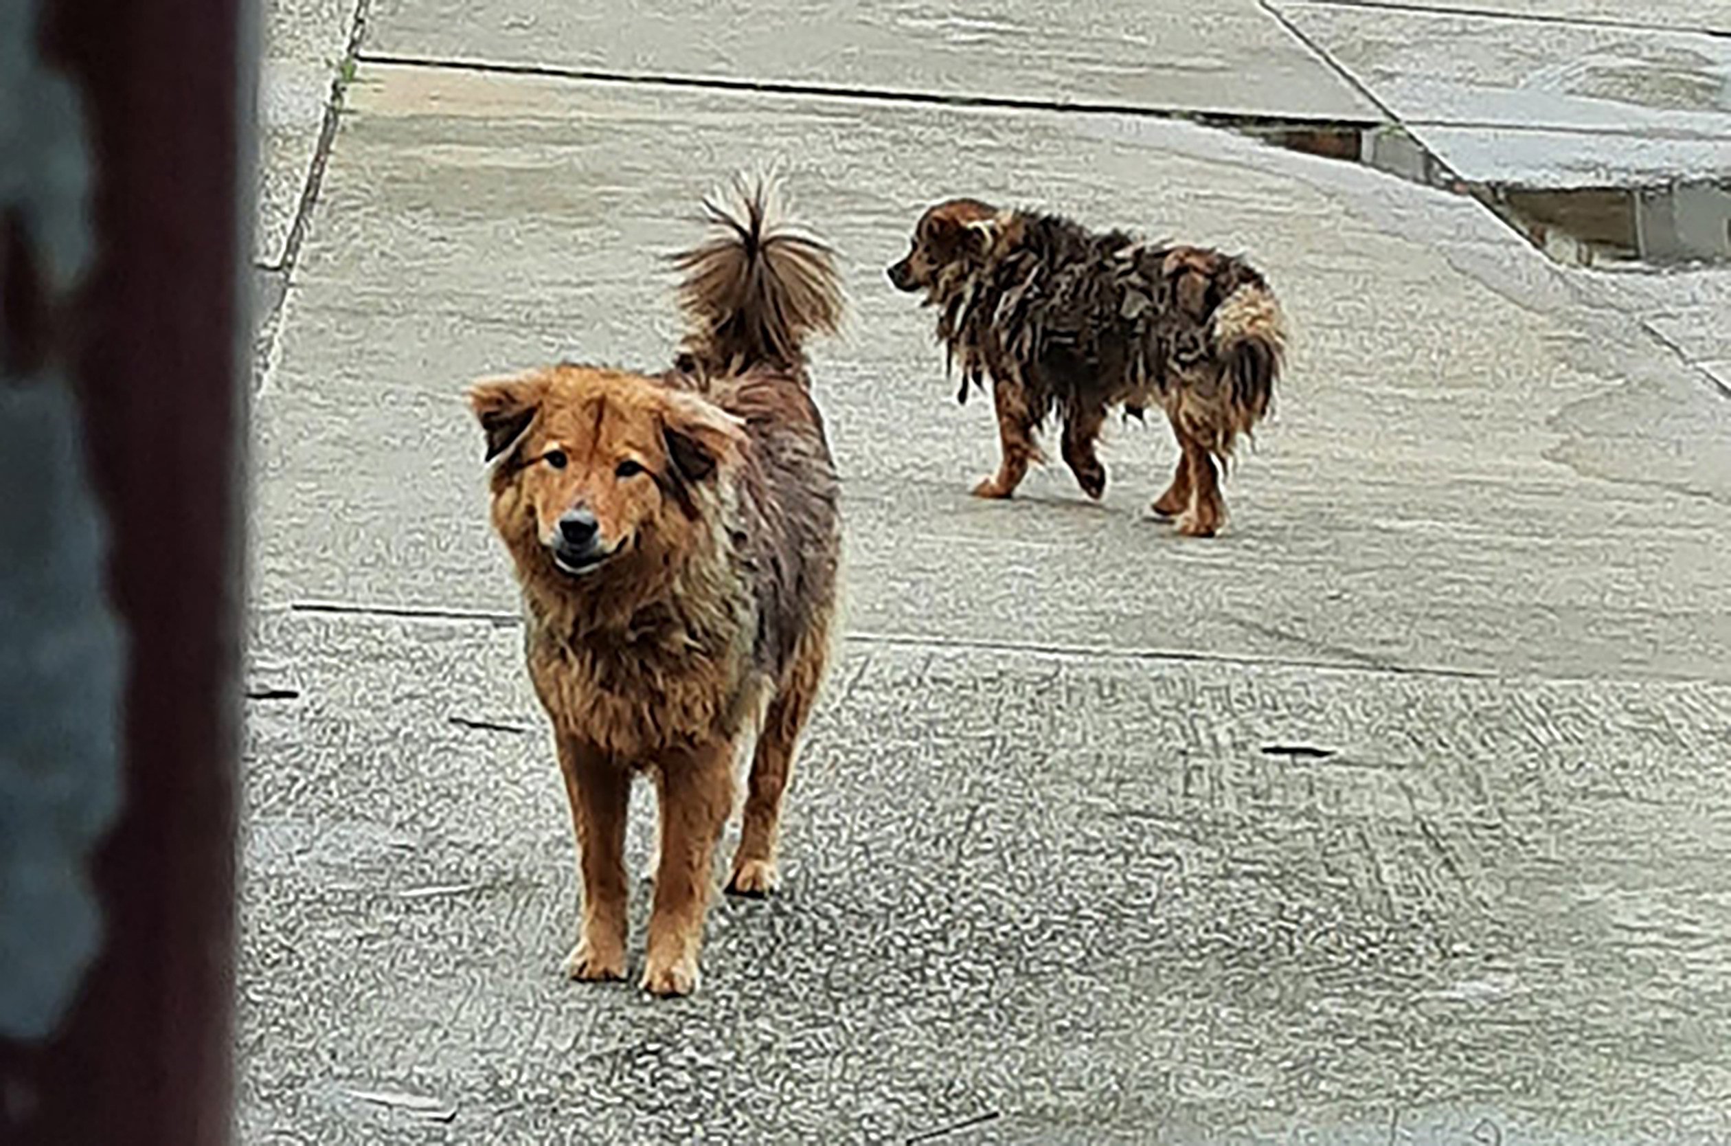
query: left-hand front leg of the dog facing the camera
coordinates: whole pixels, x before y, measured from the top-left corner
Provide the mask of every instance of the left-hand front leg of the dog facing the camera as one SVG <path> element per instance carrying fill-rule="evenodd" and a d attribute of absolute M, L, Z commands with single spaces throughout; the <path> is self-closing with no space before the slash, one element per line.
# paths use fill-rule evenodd
<path fill-rule="evenodd" d="M 571 800 L 583 930 L 564 963 L 578 980 L 625 978 L 625 819 L 632 776 L 595 748 L 559 737 L 559 770 Z"/>

